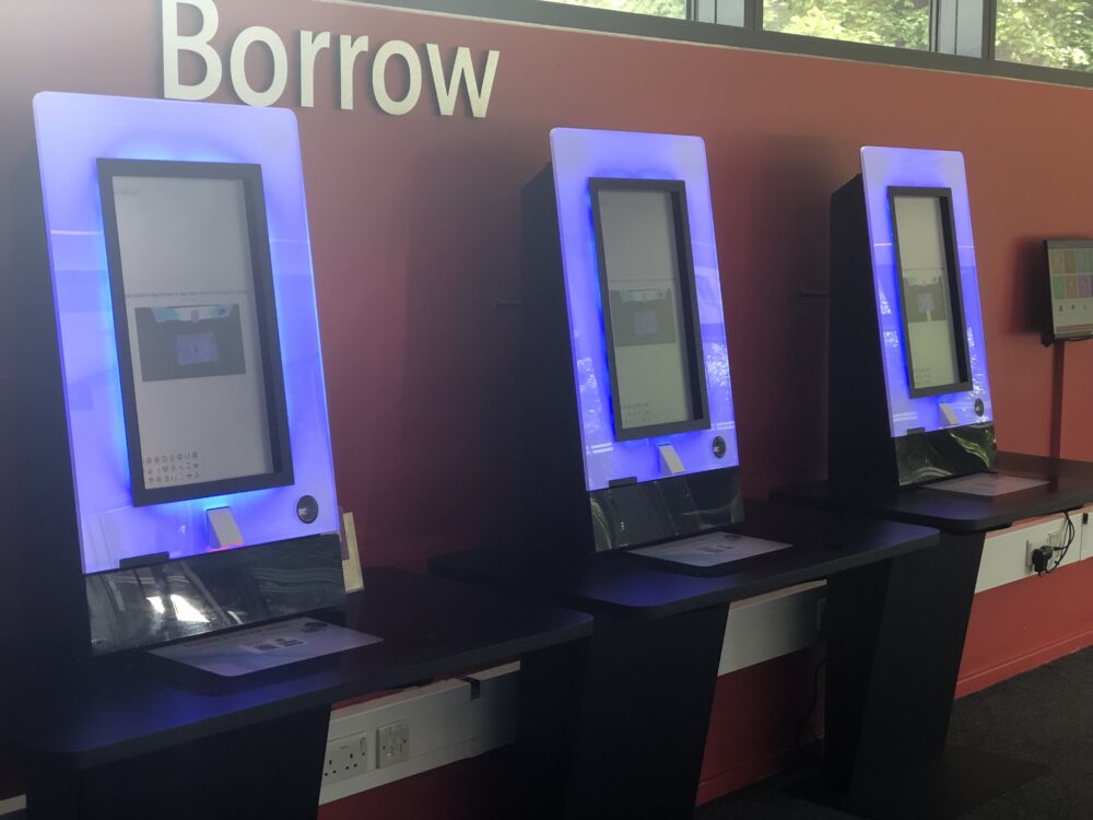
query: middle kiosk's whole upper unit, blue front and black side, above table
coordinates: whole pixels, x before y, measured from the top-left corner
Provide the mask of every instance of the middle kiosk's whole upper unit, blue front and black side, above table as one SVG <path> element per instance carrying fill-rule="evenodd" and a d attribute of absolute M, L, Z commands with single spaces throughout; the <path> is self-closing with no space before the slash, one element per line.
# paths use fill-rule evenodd
<path fill-rule="evenodd" d="M 555 129 L 551 149 L 522 198 L 527 540 L 606 551 L 739 522 L 705 145 Z"/>

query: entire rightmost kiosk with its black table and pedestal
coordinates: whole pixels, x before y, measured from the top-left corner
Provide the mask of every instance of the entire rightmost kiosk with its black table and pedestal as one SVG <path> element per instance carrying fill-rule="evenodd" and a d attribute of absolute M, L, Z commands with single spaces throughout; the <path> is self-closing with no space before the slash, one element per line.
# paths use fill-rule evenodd
<path fill-rule="evenodd" d="M 963 155 L 860 160 L 832 197 L 828 478 L 774 495 L 942 532 L 828 583 L 828 725 L 862 703 L 869 719 L 825 753 L 841 806 L 956 817 L 1045 771 L 947 746 L 986 534 L 1080 509 L 1093 466 L 997 448 Z"/>

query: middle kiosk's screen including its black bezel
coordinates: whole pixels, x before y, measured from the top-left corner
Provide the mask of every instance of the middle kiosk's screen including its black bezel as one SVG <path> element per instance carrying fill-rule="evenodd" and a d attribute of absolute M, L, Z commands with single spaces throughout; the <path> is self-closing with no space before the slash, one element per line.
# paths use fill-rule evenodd
<path fill-rule="evenodd" d="M 682 181 L 590 180 L 615 438 L 709 426 Z"/>

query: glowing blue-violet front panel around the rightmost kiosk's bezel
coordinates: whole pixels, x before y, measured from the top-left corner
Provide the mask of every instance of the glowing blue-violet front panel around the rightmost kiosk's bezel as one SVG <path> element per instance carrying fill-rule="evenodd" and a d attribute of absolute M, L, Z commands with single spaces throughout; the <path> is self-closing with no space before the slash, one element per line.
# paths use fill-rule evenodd
<path fill-rule="evenodd" d="M 892 436 L 904 436 L 913 429 L 933 432 L 953 426 L 947 423 L 942 415 L 942 403 L 952 408 L 961 425 L 994 420 L 990 383 L 987 377 L 987 350 L 983 335 L 983 312 L 979 307 L 979 281 L 975 267 L 975 245 L 972 241 L 972 210 L 968 206 L 963 154 L 957 151 L 867 147 L 861 149 L 861 175 L 865 183 L 869 244 L 877 294 L 877 321 L 882 340 Z M 917 399 L 910 397 L 903 323 L 900 315 L 900 272 L 896 267 L 889 204 L 891 187 L 952 190 L 956 255 L 964 292 L 964 317 L 967 321 L 971 390 Z M 977 399 L 984 403 L 982 415 L 975 411 Z"/>

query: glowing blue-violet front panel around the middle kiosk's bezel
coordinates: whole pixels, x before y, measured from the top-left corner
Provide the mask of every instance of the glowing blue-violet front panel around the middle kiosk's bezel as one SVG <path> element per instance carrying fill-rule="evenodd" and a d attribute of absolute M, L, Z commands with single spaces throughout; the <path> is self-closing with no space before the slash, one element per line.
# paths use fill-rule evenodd
<path fill-rule="evenodd" d="M 551 132 L 551 152 L 587 490 L 604 489 L 612 479 L 633 477 L 638 481 L 651 481 L 666 478 L 659 450 L 662 444 L 675 448 L 685 473 L 738 466 L 740 456 L 705 143 L 697 137 L 560 128 Z M 588 187 L 592 177 L 675 179 L 686 184 L 709 398 L 709 430 L 635 441 L 615 440 Z M 722 458 L 714 455 L 713 443 L 717 436 L 727 445 Z"/>

